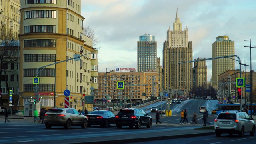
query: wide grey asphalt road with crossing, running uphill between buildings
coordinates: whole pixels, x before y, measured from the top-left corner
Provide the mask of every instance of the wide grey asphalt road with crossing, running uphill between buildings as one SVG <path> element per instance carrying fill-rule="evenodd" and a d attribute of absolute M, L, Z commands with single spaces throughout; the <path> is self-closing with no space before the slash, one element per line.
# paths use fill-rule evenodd
<path fill-rule="evenodd" d="M 198 132 L 194 128 L 202 127 L 202 114 L 198 113 L 200 106 L 206 106 L 208 110 L 215 109 L 214 105 L 218 103 L 217 100 L 185 100 L 181 104 L 172 103 L 170 108 L 172 110 L 172 116 L 160 117 L 162 124 L 154 124 L 153 119 L 152 128 L 146 128 L 142 126 L 141 129 L 130 129 L 128 126 L 123 126 L 122 129 L 117 129 L 116 126 L 109 126 L 108 128 L 102 128 L 100 126 L 91 126 L 86 129 L 82 129 L 80 126 L 74 126 L 70 130 L 66 130 L 63 127 L 52 127 L 46 129 L 44 124 L 31 122 L 18 122 L 18 120 L 12 120 L 11 123 L 0 123 L 0 144 L 68 144 L 68 143 L 99 143 L 105 140 L 112 140 L 109 143 L 124 143 L 123 139 L 131 139 L 132 142 L 139 142 L 139 140 L 150 140 L 154 136 L 170 136 L 170 138 L 179 138 L 180 134 L 184 131 L 192 131 L 194 136 L 201 136 L 204 132 Z M 160 107 L 161 102 L 143 107 L 152 118 L 155 117 L 155 113 L 150 112 L 152 106 Z M 162 101 L 162 107 L 166 108 L 166 103 Z M 184 124 L 180 125 L 180 111 L 188 109 L 188 120 L 191 120 L 193 112 L 198 113 L 198 125 Z M 210 112 L 210 111 L 209 111 Z M 209 113 L 208 122 L 214 123 L 216 115 Z M 214 132 L 214 131 L 212 131 Z M 198 134 L 197 134 L 198 133 Z M 171 137 L 172 136 L 172 137 Z M 216 138 L 214 133 L 209 138 Z M 225 135 L 224 137 L 225 138 Z M 222 137 L 221 137 L 222 139 Z M 162 140 L 162 139 L 161 139 Z M 176 139 L 174 139 L 176 140 Z M 183 139 L 182 142 L 183 143 Z M 114 141 L 114 142 L 113 142 Z M 194 138 L 194 141 L 200 142 L 198 138 Z M 128 142 L 128 141 L 125 141 Z M 131 142 L 131 141 L 129 141 Z M 104 142 L 108 143 L 108 142 Z M 186 143 L 186 142 L 185 142 Z"/>

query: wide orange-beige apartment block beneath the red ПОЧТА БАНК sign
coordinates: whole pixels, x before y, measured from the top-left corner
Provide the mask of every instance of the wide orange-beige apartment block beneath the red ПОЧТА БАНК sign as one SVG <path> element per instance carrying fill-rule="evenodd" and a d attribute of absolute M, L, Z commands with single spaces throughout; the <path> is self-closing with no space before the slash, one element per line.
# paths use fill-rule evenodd
<path fill-rule="evenodd" d="M 98 92 L 95 94 L 95 101 L 102 103 L 106 100 L 117 102 L 119 99 L 127 99 L 134 103 L 158 97 L 158 75 L 157 71 L 121 72 L 110 70 L 110 72 L 98 72 Z M 118 89 L 117 82 L 124 82 L 124 89 Z"/>

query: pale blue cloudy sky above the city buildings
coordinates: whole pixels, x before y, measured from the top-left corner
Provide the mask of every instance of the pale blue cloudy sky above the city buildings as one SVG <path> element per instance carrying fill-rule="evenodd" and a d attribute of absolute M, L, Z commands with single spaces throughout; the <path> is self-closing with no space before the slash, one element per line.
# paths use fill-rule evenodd
<path fill-rule="evenodd" d="M 235 42 L 235 55 L 245 60 L 246 72 L 256 70 L 256 0 L 82 0 L 84 26 L 94 29 L 100 40 L 98 71 L 106 68 L 136 68 L 137 41 L 144 34 L 156 37 L 157 57 L 162 65 L 163 43 L 167 28 L 178 15 L 182 30 L 188 28 L 193 60 L 212 58 L 212 43 L 217 36 Z M 238 58 L 236 58 L 238 60 Z M 244 61 L 241 61 L 244 64 Z M 207 79 L 212 76 L 212 60 L 206 61 Z M 244 70 L 244 65 L 241 66 Z M 239 62 L 235 62 L 239 69 Z"/>

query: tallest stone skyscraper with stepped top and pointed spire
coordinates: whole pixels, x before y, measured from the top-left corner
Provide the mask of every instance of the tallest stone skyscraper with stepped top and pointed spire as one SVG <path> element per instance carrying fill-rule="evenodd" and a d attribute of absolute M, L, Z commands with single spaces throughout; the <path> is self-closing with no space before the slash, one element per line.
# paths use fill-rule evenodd
<path fill-rule="evenodd" d="M 184 90 L 183 94 L 188 94 L 192 88 L 192 68 L 193 63 L 182 63 L 191 61 L 193 57 L 192 42 L 188 41 L 188 28 L 182 30 L 182 23 L 178 15 L 173 23 L 173 30 L 170 26 L 167 29 L 167 40 L 163 47 L 163 67 L 164 67 L 164 89 Z"/>

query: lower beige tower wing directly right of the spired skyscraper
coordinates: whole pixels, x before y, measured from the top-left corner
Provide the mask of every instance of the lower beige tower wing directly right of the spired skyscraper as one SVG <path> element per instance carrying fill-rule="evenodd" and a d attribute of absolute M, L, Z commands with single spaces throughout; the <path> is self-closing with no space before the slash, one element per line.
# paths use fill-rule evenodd
<path fill-rule="evenodd" d="M 205 58 L 197 58 L 194 60 L 202 60 Z M 207 84 L 207 66 L 206 61 L 194 62 L 193 68 L 193 87 L 203 87 Z"/>

